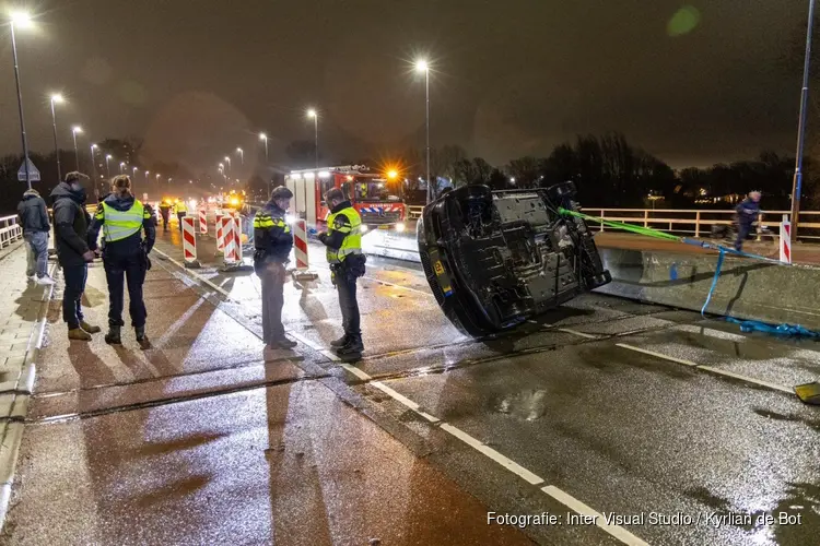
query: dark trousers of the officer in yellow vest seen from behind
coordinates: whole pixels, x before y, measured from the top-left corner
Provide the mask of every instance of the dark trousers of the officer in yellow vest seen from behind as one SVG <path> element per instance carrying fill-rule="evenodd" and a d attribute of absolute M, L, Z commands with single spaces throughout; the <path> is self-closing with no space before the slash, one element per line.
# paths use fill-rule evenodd
<path fill-rule="evenodd" d="M 142 300 L 142 284 L 145 282 L 148 261 L 142 251 L 117 256 L 108 253 L 103 258 L 105 278 L 108 281 L 108 325 L 124 327 L 122 307 L 125 306 L 124 288 L 128 283 L 128 311 L 133 328 L 144 327 L 145 302 Z"/>

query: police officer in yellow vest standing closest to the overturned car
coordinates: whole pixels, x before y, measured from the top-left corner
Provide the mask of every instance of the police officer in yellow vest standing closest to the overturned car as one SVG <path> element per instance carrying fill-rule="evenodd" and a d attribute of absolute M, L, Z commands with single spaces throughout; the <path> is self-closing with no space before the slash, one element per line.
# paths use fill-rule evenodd
<path fill-rule="evenodd" d="M 356 301 L 356 278 L 364 275 L 365 263 L 362 253 L 362 218 L 339 188 L 328 191 L 325 201 L 330 206 L 330 215 L 327 218 L 328 230 L 319 234 L 319 240 L 327 247 L 327 261 L 339 292 L 344 328 L 344 335 L 330 342 L 330 345 L 336 347 L 339 356 L 359 357 L 364 351 Z"/>

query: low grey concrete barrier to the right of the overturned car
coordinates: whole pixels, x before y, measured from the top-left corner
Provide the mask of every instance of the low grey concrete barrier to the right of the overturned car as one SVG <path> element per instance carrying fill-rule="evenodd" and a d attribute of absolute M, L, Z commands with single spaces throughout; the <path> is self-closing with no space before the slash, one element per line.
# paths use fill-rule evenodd
<path fill-rule="evenodd" d="M 596 292 L 700 311 L 717 254 L 600 248 L 612 282 Z M 820 268 L 726 257 L 706 309 L 712 314 L 820 330 Z"/>

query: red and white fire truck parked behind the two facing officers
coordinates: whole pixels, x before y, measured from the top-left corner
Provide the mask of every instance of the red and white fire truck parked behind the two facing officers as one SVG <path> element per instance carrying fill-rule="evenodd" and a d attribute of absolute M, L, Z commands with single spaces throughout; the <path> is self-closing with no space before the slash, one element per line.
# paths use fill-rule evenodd
<path fill-rule="evenodd" d="M 331 188 L 339 188 L 359 212 L 365 230 L 405 230 L 407 206 L 397 194 L 399 182 L 368 173 L 363 165 L 293 170 L 285 175 L 284 180 L 293 192 L 293 214 L 305 219 L 308 227 L 325 227 L 330 214 L 325 193 Z"/>

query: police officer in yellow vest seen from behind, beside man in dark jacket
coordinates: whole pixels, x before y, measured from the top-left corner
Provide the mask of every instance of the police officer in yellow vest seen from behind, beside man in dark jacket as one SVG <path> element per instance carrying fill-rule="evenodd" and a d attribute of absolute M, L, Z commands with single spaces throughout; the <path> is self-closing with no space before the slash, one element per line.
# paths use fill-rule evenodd
<path fill-rule="evenodd" d="M 155 218 L 149 205 L 133 198 L 131 179 L 120 175 L 112 180 L 112 193 L 97 206 L 89 229 L 89 247 L 96 249 L 99 228 L 103 228 L 105 248 L 103 265 L 108 281 L 108 333 L 105 342 L 122 343 L 120 329 L 124 307 L 124 281 L 128 283 L 129 314 L 137 334 L 137 342 L 148 348 L 145 336 L 145 302 L 142 300 L 142 284 L 145 271 L 151 266 L 148 253 L 156 239 Z M 145 232 L 142 239 L 141 232 Z"/>

